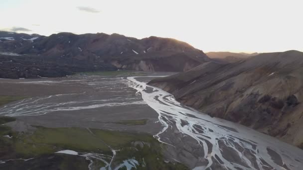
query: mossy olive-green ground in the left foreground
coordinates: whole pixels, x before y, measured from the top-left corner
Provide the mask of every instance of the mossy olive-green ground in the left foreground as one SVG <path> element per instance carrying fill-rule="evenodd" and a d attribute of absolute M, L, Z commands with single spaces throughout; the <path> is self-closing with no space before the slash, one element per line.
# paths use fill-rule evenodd
<path fill-rule="evenodd" d="M 124 123 L 142 124 L 146 121 L 146 119 L 128 120 Z M 48 158 L 48 155 L 60 150 L 93 152 L 112 156 L 111 148 L 113 148 L 117 151 L 113 167 L 120 165 L 125 160 L 135 159 L 139 162 L 138 170 L 187 170 L 181 164 L 164 163 L 162 150 L 165 145 L 162 145 L 148 134 L 85 128 L 45 128 L 41 126 L 33 126 L 36 128 L 33 132 L 17 133 L 11 131 L 9 127 L 1 127 L 1 133 L 9 132 L 13 138 L 0 136 L 0 160 L 44 158 L 43 156 Z M 69 164 L 72 163 L 72 157 L 64 155 L 57 166 L 61 169 L 68 169 L 71 166 Z M 42 161 L 47 162 L 47 159 Z M 87 161 L 78 163 L 78 166 L 87 169 Z M 100 168 L 100 166 L 104 166 L 104 163 L 94 161 L 93 165 Z"/>

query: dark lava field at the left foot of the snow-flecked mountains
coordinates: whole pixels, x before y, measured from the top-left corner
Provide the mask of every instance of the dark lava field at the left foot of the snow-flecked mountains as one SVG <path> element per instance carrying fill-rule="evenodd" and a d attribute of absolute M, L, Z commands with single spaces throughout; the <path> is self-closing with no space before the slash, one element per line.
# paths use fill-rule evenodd
<path fill-rule="evenodd" d="M 0 55 L 0 78 L 2 79 L 35 79 L 43 77 L 65 77 L 76 72 L 114 71 L 110 64 L 97 64 L 73 60 L 72 62 L 40 56 L 7 56 Z"/>

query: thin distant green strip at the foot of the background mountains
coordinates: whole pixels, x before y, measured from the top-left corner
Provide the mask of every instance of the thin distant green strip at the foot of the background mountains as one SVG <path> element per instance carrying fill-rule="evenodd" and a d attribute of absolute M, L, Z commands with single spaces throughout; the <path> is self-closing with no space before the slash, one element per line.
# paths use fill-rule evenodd
<path fill-rule="evenodd" d="M 105 76 L 105 77 L 128 77 L 128 76 L 147 76 L 145 72 L 120 70 L 120 71 L 109 71 L 109 72 L 83 72 L 77 75 L 94 75 L 94 76 Z"/>

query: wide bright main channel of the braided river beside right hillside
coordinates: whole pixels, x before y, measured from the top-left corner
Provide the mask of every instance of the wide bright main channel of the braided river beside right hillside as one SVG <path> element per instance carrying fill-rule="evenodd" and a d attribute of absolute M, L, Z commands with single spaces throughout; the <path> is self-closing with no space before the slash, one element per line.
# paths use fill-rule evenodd
<path fill-rule="evenodd" d="M 142 94 L 142 98 L 157 113 L 163 125 L 155 137 L 174 145 L 165 131 L 175 128 L 195 139 L 203 147 L 207 165 L 196 170 L 211 168 L 214 161 L 230 170 L 302 170 L 303 150 L 259 133 L 245 126 L 218 119 L 181 105 L 162 89 L 128 77 L 129 86 Z M 149 89 L 149 90 L 147 90 Z"/>

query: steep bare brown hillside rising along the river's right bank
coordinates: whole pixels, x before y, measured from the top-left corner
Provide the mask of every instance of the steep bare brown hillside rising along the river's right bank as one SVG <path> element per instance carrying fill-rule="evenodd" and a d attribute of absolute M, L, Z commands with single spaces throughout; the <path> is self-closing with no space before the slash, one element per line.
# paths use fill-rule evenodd
<path fill-rule="evenodd" d="M 211 116 L 239 122 L 303 148 L 303 53 L 263 53 L 204 63 L 151 81 Z"/>

